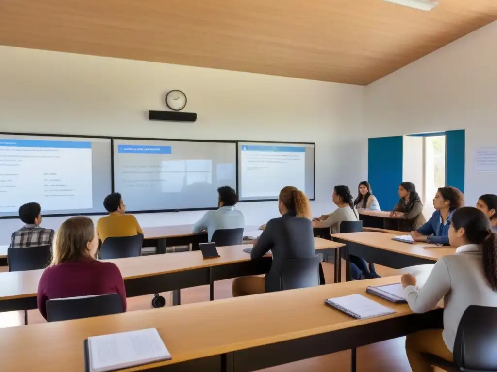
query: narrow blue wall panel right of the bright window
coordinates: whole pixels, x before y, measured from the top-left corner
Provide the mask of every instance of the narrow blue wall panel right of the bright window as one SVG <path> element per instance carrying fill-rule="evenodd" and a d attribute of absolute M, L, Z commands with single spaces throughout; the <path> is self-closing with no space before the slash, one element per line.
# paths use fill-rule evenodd
<path fill-rule="evenodd" d="M 466 161 L 465 131 L 445 132 L 445 185 L 459 188 L 464 192 L 464 172 Z"/>

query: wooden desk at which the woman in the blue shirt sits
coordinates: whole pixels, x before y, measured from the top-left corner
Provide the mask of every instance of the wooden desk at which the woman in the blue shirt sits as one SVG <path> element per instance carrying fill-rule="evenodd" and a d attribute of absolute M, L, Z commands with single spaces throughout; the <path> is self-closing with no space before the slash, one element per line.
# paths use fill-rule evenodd
<path fill-rule="evenodd" d="M 340 255 L 348 262 L 349 255 L 364 258 L 368 262 L 400 269 L 403 267 L 435 263 L 440 257 L 454 254 L 456 248 L 438 247 L 426 243 L 402 243 L 392 240 L 396 234 L 368 232 L 332 234 L 331 237 L 345 247 L 340 248 Z M 336 275 L 341 274 L 341 261 L 335 267 Z M 347 264 L 347 279 L 349 265 Z M 340 276 L 335 276 L 339 280 Z M 337 280 L 337 281 L 338 281 Z"/>

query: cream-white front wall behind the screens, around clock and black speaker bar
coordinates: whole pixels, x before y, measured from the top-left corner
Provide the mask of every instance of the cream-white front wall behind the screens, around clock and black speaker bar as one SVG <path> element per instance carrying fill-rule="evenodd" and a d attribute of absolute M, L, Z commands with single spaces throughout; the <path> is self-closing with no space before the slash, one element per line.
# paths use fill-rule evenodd
<path fill-rule="evenodd" d="M 152 122 L 170 89 L 188 97 L 195 123 Z M 0 46 L 0 131 L 157 138 L 316 142 L 315 214 L 334 209 L 332 187 L 367 173 L 364 87 L 154 62 Z M 356 192 L 356 191 L 355 191 Z M 355 193 L 354 192 L 354 193 Z M 248 225 L 276 202 L 240 203 Z M 138 215 L 144 226 L 195 222 L 203 212 Z M 64 218 L 46 218 L 57 228 Z M 18 220 L 0 220 L 0 244 Z"/>

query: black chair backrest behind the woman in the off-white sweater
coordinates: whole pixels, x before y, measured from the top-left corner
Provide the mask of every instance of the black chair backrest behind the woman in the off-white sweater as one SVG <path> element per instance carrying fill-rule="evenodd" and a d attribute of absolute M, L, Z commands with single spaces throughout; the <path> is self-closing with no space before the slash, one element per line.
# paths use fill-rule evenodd
<path fill-rule="evenodd" d="M 466 370 L 497 371 L 497 308 L 471 305 L 457 328 L 454 362 Z"/>

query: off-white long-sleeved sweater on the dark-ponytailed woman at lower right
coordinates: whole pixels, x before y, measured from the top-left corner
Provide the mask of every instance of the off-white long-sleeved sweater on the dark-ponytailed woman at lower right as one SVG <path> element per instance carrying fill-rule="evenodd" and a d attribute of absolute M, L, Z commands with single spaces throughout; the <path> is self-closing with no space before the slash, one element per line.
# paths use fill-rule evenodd
<path fill-rule="evenodd" d="M 409 286 L 405 292 L 416 313 L 432 310 L 444 300 L 442 335 L 450 351 L 459 321 L 470 305 L 497 307 L 497 292 L 484 273 L 482 248 L 475 244 L 461 246 L 456 254 L 440 258 L 421 289 Z"/>

